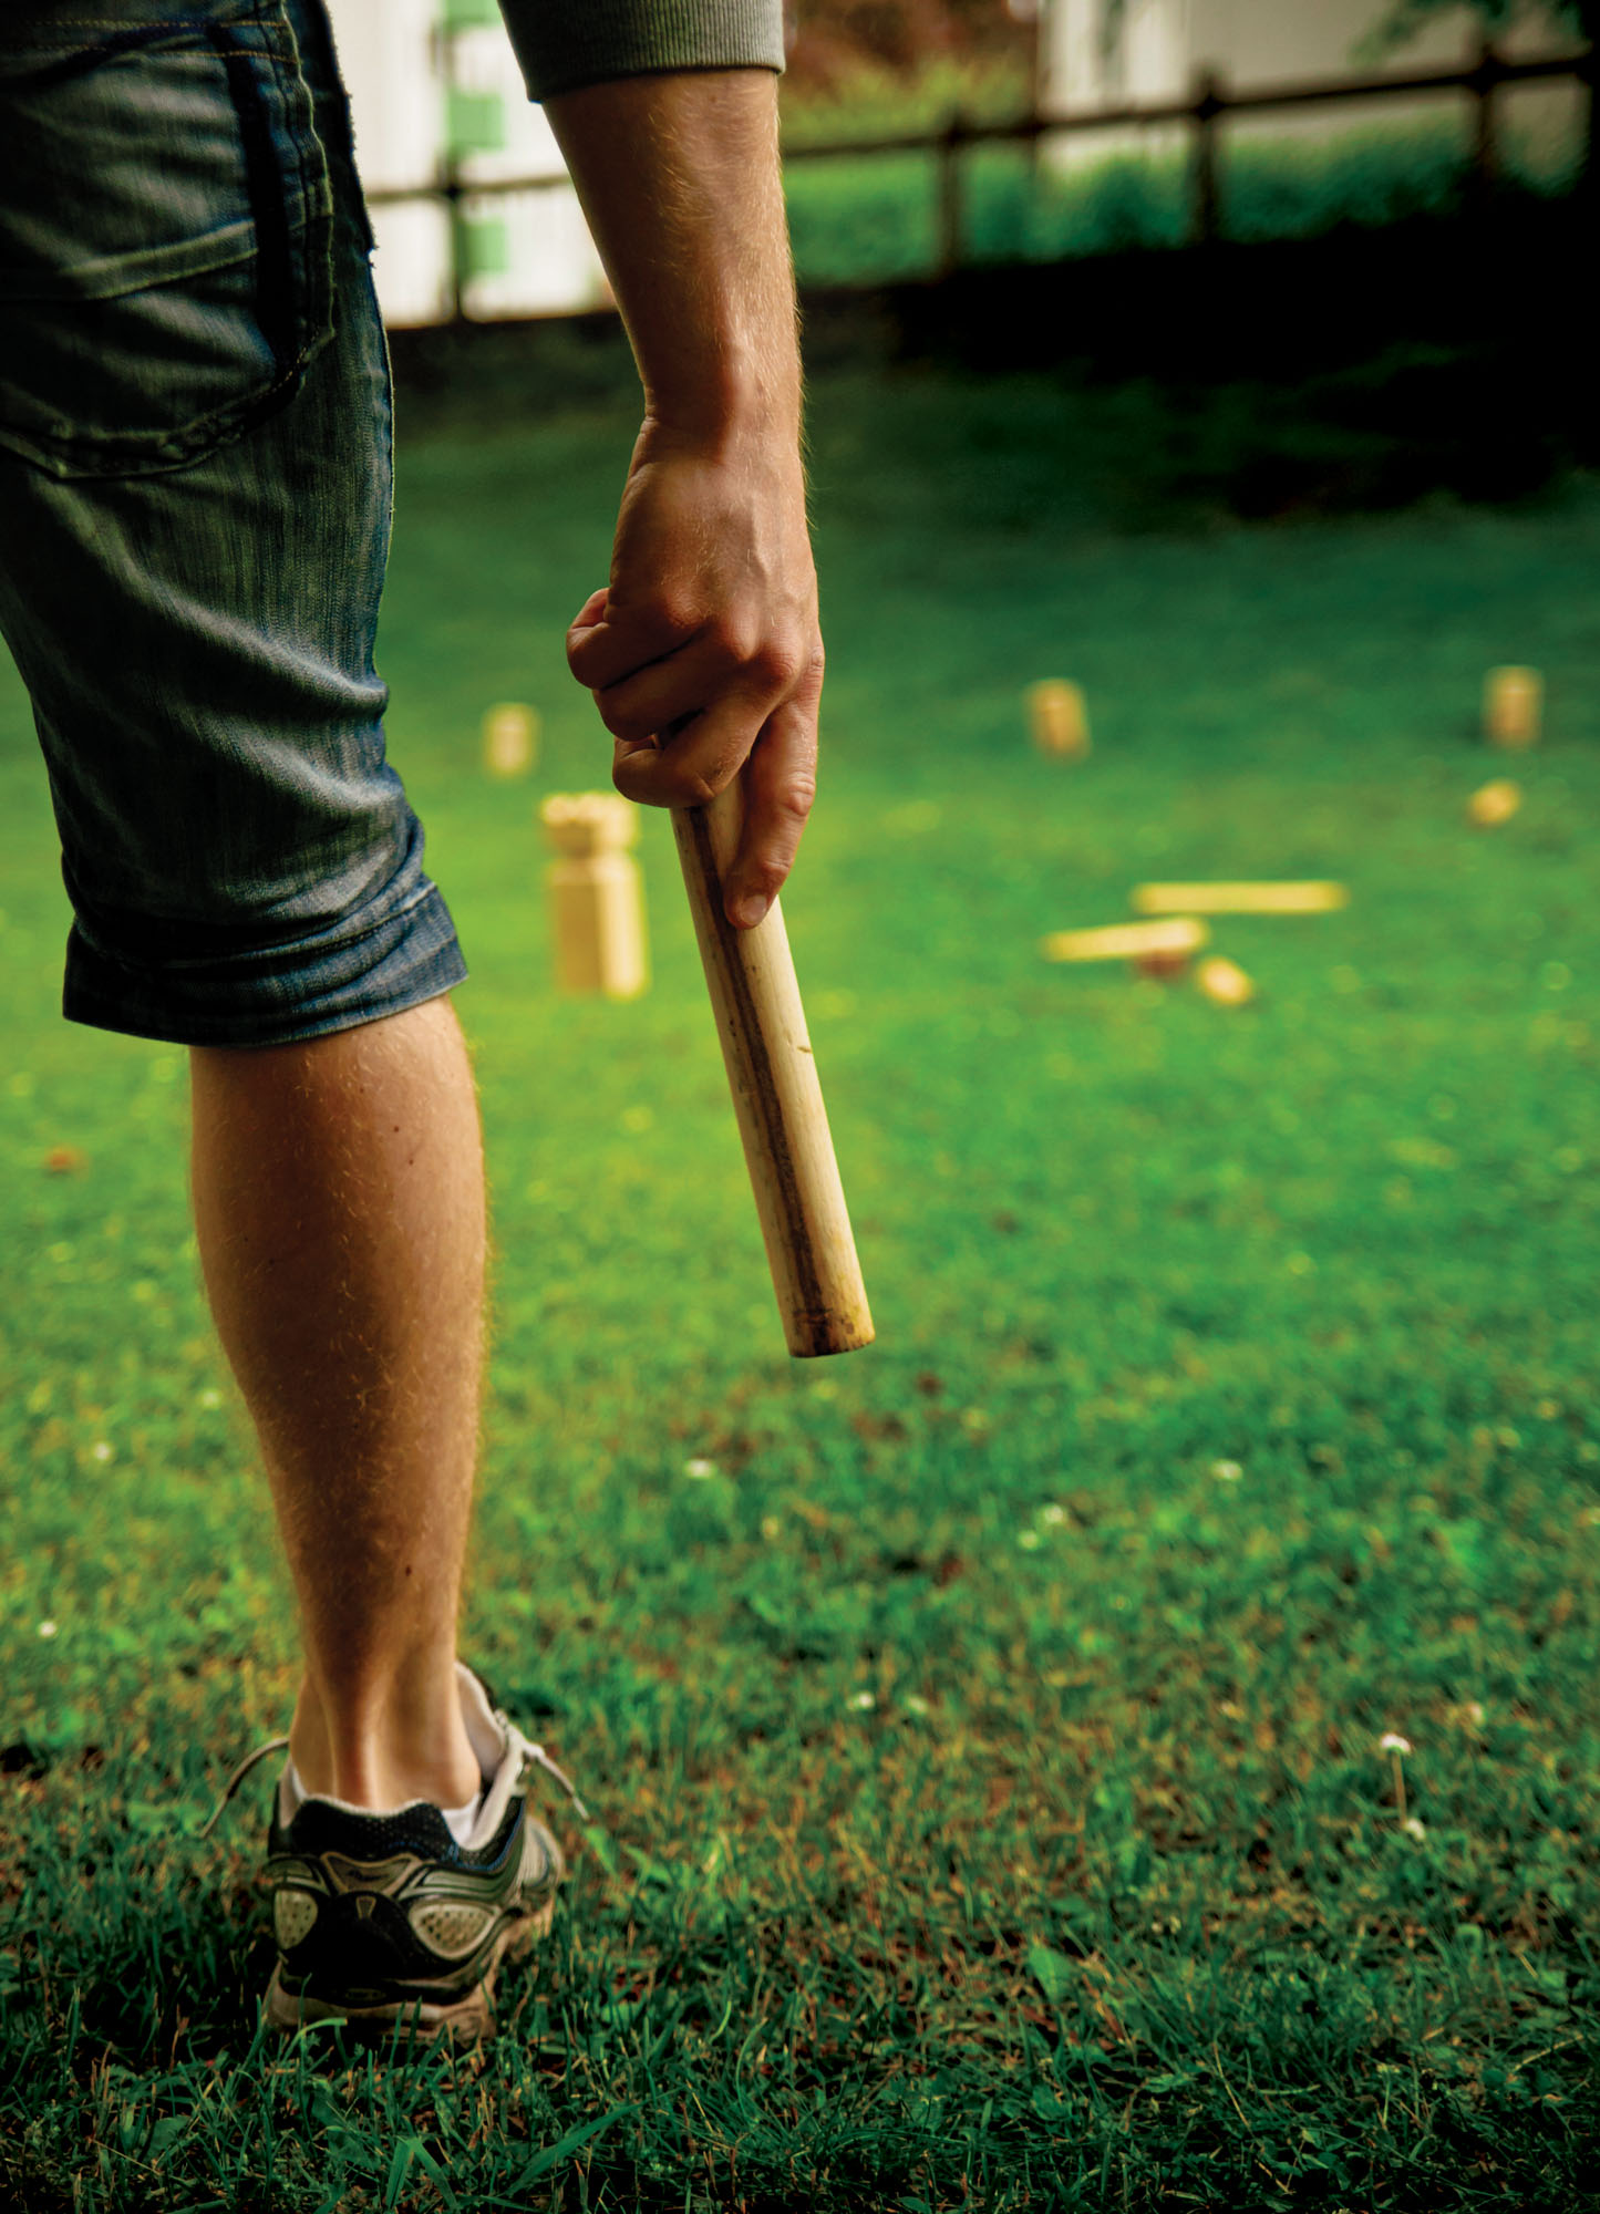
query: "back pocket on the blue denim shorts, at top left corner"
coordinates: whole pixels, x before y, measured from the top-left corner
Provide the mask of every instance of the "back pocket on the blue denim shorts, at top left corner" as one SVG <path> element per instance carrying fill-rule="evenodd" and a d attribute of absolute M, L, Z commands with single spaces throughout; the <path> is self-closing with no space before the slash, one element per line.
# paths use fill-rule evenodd
<path fill-rule="evenodd" d="M 0 443 L 51 476 L 180 469 L 332 332 L 310 86 L 281 0 L 49 18 L 0 31 Z"/>

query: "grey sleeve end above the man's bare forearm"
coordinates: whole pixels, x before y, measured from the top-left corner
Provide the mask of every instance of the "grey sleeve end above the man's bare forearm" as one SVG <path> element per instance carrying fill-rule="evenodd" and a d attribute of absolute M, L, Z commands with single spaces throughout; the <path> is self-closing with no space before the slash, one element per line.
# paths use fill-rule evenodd
<path fill-rule="evenodd" d="M 782 0 L 501 0 L 530 100 L 667 69 L 782 69 Z"/>

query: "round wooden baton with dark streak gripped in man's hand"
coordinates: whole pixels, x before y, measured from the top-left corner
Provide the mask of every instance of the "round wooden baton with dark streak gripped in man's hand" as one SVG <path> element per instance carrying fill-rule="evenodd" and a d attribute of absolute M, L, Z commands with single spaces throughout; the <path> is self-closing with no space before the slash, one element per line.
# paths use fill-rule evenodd
<path fill-rule="evenodd" d="M 738 779 L 705 808 L 671 810 L 784 1342 L 800 1359 L 853 1353 L 873 1342 L 873 1317 L 782 908 L 773 899 L 753 930 L 722 912 L 740 821 Z"/>

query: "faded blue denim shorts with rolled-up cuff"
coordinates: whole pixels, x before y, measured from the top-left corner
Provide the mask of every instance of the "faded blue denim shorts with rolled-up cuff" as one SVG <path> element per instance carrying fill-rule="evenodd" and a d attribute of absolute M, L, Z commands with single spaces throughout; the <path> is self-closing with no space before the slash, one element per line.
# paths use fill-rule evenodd
<path fill-rule="evenodd" d="M 0 0 L 0 629 L 78 1023 L 279 1045 L 465 974 L 383 753 L 370 248 L 321 0 Z"/>

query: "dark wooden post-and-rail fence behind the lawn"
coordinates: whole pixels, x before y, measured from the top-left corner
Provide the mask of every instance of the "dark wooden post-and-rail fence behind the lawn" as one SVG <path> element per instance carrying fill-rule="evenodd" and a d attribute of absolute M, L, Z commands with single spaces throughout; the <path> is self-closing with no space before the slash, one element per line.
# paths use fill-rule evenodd
<path fill-rule="evenodd" d="M 824 139 L 820 144 L 784 146 L 784 166 L 793 162 L 838 162 L 873 159 L 898 153 L 935 155 L 935 275 L 951 277 L 962 266 L 962 155 L 971 146 L 1033 146 L 1050 139 L 1086 135 L 1090 131 L 1128 131 L 1161 124 L 1188 126 L 1190 137 L 1190 241 L 1208 246 L 1221 235 L 1221 175 L 1219 175 L 1219 126 L 1230 115 L 1270 115 L 1285 108 L 1343 106 L 1345 102 L 1418 97 L 1427 93 L 1465 93 L 1474 102 L 1469 182 L 1474 197 L 1487 201 L 1500 168 L 1500 135 L 1496 124 L 1496 95 L 1514 84 L 1540 84 L 1567 77 L 1587 93 L 1584 153 L 1580 186 L 1587 193 L 1600 184 L 1600 146 L 1596 82 L 1600 77 L 1600 55 L 1593 46 L 1576 53 L 1534 55 L 1511 60 L 1494 42 L 1485 40 L 1476 62 L 1465 69 L 1427 69 L 1407 75 L 1372 77 L 1321 77 L 1303 84 L 1265 84 L 1248 91 L 1232 91 L 1217 69 L 1194 73 L 1188 100 L 1157 102 L 1148 106 L 1079 108 L 1061 115 L 1017 115 L 1008 122 L 977 122 L 960 111 L 937 131 L 891 133 L 884 137 Z M 463 239 L 459 208 L 463 199 L 499 197 L 505 193 L 547 193 L 567 186 L 565 173 L 541 177 L 483 177 L 465 179 L 454 164 L 439 177 L 421 186 L 390 186 L 368 193 L 372 206 L 394 201 L 439 199 L 452 213 L 452 299 L 461 317 L 463 283 Z"/>

